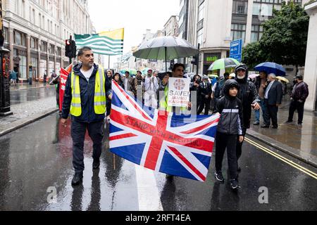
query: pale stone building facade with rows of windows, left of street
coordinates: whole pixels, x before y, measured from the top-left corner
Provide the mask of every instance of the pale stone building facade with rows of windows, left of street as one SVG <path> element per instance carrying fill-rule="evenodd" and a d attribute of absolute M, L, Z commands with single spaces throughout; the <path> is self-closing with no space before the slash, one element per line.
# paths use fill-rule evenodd
<path fill-rule="evenodd" d="M 94 33 L 87 0 L 3 0 L 4 47 L 11 50 L 10 70 L 21 81 L 58 73 L 69 65 L 65 40 Z M 74 36 L 73 36 L 74 37 Z"/>

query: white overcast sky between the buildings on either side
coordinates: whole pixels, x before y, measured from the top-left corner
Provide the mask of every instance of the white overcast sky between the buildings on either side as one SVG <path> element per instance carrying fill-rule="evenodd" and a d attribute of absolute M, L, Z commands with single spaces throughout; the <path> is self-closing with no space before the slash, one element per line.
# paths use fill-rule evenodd
<path fill-rule="evenodd" d="M 88 7 L 97 32 L 125 28 L 123 53 L 127 53 L 140 44 L 147 29 L 162 30 L 171 15 L 178 15 L 180 0 L 89 0 Z M 111 57 L 111 64 L 116 58 Z"/>

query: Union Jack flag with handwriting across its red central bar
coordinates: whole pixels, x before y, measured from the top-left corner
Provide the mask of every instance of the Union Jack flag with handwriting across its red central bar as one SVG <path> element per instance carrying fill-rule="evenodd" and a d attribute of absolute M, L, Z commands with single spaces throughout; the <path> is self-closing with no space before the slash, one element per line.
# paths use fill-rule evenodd
<path fill-rule="evenodd" d="M 148 169 L 206 181 L 218 115 L 175 115 L 142 108 L 116 82 L 112 89 L 112 153 Z"/>

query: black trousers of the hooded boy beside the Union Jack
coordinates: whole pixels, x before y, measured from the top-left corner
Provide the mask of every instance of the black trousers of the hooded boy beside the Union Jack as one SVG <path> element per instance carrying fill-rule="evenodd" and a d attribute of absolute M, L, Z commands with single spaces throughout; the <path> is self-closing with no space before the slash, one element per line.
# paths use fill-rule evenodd
<path fill-rule="evenodd" d="M 223 134 L 217 132 L 216 134 L 216 172 L 221 172 L 223 164 L 223 155 L 225 148 L 227 148 L 227 158 L 230 179 L 237 179 L 237 135 Z"/>

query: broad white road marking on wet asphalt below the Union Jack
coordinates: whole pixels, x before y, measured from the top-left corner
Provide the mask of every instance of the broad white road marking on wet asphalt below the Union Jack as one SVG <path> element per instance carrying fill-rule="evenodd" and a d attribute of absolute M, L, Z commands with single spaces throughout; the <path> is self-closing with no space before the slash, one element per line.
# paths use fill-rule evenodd
<path fill-rule="evenodd" d="M 140 211 L 163 211 L 159 188 L 156 184 L 154 172 L 139 165 L 135 165 L 137 175 L 137 195 Z"/>

